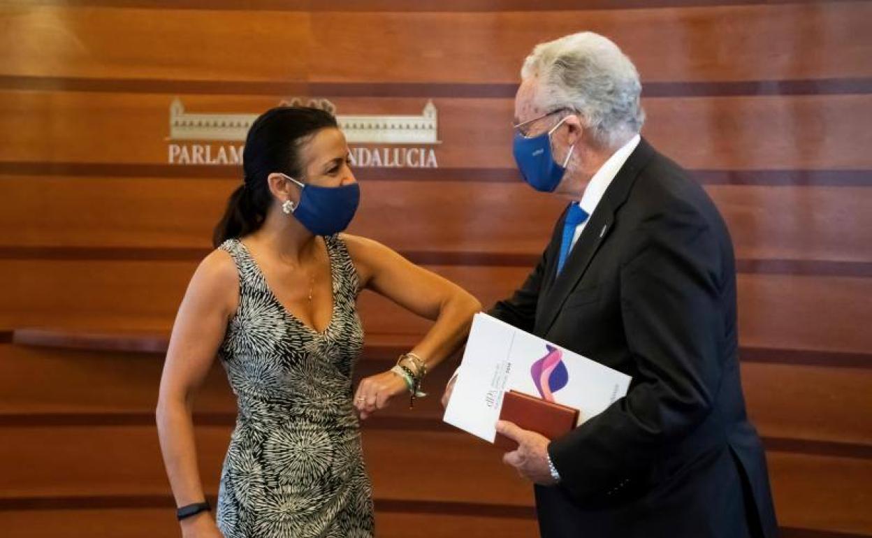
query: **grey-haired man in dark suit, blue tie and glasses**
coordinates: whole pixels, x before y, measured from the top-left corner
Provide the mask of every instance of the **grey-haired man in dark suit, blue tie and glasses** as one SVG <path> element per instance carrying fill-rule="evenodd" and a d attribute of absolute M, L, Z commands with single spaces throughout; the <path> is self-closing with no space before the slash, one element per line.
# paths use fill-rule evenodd
<path fill-rule="evenodd" d="M 640 138 L 638 73 L 610 40 L 540 44 L 521 78 L 515 160 L 532 187 L 572 203 L 491 315 L 632 377 L 625 398 L 560 439 L 498 424 L 520 445 L 504 461 L 536 484 L 542 537 L 776 535 L 718 209 Z"/>

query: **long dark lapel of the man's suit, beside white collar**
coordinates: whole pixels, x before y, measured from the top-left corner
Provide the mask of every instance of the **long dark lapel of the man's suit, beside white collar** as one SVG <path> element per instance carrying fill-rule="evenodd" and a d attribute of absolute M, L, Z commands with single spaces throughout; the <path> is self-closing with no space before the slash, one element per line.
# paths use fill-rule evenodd
<path fill-rule="evenodd" d="M 608 238 L 611 228 L 615 224 L 617 209 L 627 200 L 630 187 L 633 186 L 639 172 L 653 154 L 654 149 L 644 139 L 639 140 L 639 145 L 633 150 L 633 153 L 630 153 L 630 157 L 603 193 L 603 199 L 596 205 L 593 215 L 590 215 L 590 220 L 584 226 L 576 246 L 570 251 L 569 258 L 567 258 L 566 265 L 563 266 L 560 275 L 555 276 L 556 262 L 552 260 L 548 263 L 547 282 L 549 285 L 543 289 L 545 295 L 537 309 L 536 334 L 546 334 L 551 325 L 554 324 L 569 292 L 575 289 L 576 284 L 587 271 L 590 262 L 593 261 L 597 250 Z M 565 219 L 565 214 L 563 219 Z M 561 219 L 559 227 L 561 230 L 563 219 Z M 561 241 L 561 235 L 556 235 L 555 241 Z M 559 245 L 557 249 L 559 252 Z"/>

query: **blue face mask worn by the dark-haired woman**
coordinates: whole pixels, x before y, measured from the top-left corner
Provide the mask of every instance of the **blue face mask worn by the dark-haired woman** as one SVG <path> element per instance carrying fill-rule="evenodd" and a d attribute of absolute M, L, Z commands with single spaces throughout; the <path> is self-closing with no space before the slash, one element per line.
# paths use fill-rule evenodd
<path fill-rule="evenodd" d="M 342 187 L 318 187 L 282 175 L 303 189 L 293 213 L 312 234 L 334 235 L 348 228 L 360 204 L 360 186 L 356 182 Z"/>

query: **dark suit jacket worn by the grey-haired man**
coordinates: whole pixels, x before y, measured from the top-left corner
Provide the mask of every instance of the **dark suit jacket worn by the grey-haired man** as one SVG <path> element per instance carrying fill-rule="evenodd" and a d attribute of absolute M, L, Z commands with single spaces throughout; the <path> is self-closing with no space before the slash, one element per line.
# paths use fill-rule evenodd
<path fill-rule="evenodd" d="M 642 140 L 555 277 L 542 259 L 491 314 L 632 377 L 548 448 L 543 538 L 776 535 L 763 446 L 739 378 L 732 243 L 705 190 Z"/>

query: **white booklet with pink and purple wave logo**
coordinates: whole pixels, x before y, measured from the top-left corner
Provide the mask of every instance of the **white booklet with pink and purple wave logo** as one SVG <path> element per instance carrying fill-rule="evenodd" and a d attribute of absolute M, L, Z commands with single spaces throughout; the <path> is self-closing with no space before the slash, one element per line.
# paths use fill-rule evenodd
<path fill-rule="evenodd" d="M 443 420 L 493 443 L 505 392 L 574 407 L 581 424 L 629 387 L 630 376 L 620 371 L 479 313 Z"/>

